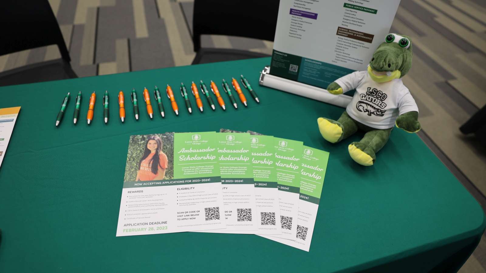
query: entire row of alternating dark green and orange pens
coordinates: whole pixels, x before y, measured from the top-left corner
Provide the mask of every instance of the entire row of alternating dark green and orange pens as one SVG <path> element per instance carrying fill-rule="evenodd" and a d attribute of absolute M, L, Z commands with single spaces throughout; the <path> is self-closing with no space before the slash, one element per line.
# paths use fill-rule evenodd
<path fill-rule="evenodd" d="M 253 88 L 251 88 L 251 85 L 248 84 L 248 81 L 245 79 L 245 77 L 243 77 L 243 75 L 241 75 L 241 82 L 242 82 L 243 86 L 246 89 L 248 89 L 248 92 L 253 97 L 253 99 L 256 102 L 260 102 L 258 100 L 257 94 L 255 93 Z M 236 99 L 233 96 L 231 88 L 229 87 L 228 83 L 224 79 L 223 79 L 222 85 L 223 85 L 223 90 L 225 90 L 226 94 L 228 95 L 229 101 L 237 109 L 238 104 L 236 102 Z M 244 106 L 246 106 L 247 105 L 246 98 L 243 94 L 242 89 L 240 88 L 240 85 L 238 84 L 238 81 L 235 78 L 232 78 L 231 85 L 233 86 L 233 89 L 238 93 L 238 96 L 240 97 L 241 102 L 244 104 Z M 212 93 L 216 96 L 218 104 L 221 106 L 221 108 L 223 108 L 223 110 L 226 110 L 225 100 L 221 97 L 221 94 L 219 93 L 219 90 L 218 90 L 218 87 L 216 86 L 216 84 L 213 81 L 211 81 L 211 84 L 209 86 L 210 86 Z M 208 88 L 206 87 L 206 84 L 204 84 L 203 81 L 200 81 L 199 88 L 200 88 L 201 92 L 206 96 L 206 99 L 208 100 L 208 104 L 210 105 L 211 109 L 215 110 L 216 107 L 214 106 L 214 102 L 212 100 L 212 97 L 209 94 Z M 186 89 L 186 86 L 184 85 L 184 83 L 181 83 L 180 90 L 181 90 L 181 95 L 184 98 L 184 101 L 186 103 L 187 110 L 189 111 L 189 113 L 192 113 L 191 101 L 189 100 L 188 92 L 187 92 L 187 89 Z M 192 82 L 192 84 L 191 84 L 191 91 L 192 91 L 192 95 L 196 99 L 197 108 L 199 108 L 199 110 L 201 112 L 203 112 L 203 110 L 204 110 L 203 102 L 201 100 L 201 97 L 199 96 L 199 89 L 197 88 L 197 85 L 194 82 Z M 171 101 L 171 106 L 172 106 L 172 109 L 174 110 L 175 115 L 179 115 L 179 107 L 177 106 L 177 102 L 175 102 L 174 92 L 172 91 L 171 86 L 167 85 L 166 92 L 167 92 L 167 97 Z M 133 88 L 133 90 L 130 94 L 130 97 L 131 97 L 131 100 L 132 100 L 132 103 L 133 103 L 133 112 L 135 114 L 135 119 L 139 119 L 139 101 L 137 99 L 137 91 L 135 90 L 135 88 Z M 160 95 L 160 90 L 157 88 L 157 86 L 155 86 L 155 89 L 154 89 L 154 99 L 157 102 L 160 115 L 162 117 L 165 117 L 165 113 L 164 113 L 165 110 L 164 110 L 164 104 L 162 103 L 162 96 Z M 154 110 L 152 108 L 152 103 L 150 101 L 150 94 L 149 94 L 149 91 L 147 90 L 147 88 L 143 89 L 143 101 L 145 102 L 145 104 L 147 106 L 147 113 L 148 113 L 149 117 L 152 119 L 154 117 Z M 66 111 L 66 107 L 68 105 L 68 102 L 69 102 L 69 93 L 64 98 L 64 101 L 63 101 L 62 106 L 61 106 L 61 110 L 59 111 L 59 114 L 57 115 L 56 126 L 58 126 L 61 123 L 61 121 L 64 117 L 64 112 Z M 93 91 L 93 93 L 91 94 L 91 97 L 89 98 L 89 108 L 88 108 L 88 113 L 87 113 L 87 123 L 88 124 L 91 122 L 91 120 L 93 120 L 95 102 L 96 102 L 96 94 Z M 123 122 L 125 120 L 125 100 L 124 100 L 123 91 L 120 91 L 120 93 L 118 94 L 118 104 L 120 105 L 120 119 Z M 108 118 L 109 118 L 108 91 L 104 92 L 103 106 L 104 106 L 104 111 L 103 111 L 104 122 L 107 123 Z M 74 124 L 76 124 L 76 122 L 79 120 L 79 109 L 80 109 L 80 107 L 81 107 L 81 91 L 78 93 L 78 95 L 76 97 L 76 106 L 74 108 L 74 119 L 73 119 Z"/>

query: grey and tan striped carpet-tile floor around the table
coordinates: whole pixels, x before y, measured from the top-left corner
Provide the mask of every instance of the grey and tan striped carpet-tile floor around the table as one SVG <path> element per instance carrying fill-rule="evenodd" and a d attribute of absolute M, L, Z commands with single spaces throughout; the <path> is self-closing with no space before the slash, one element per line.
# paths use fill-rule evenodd
<path fill-rule="evenodd" d="M 191 0 L 49 0 L 80 77 L 190 65 Z M 403 82 L 422 132 L 486 208 L 486 149 L 459 126 L 486 104 L 486 1 L 401 0 L 390 32 L 408 34 L 414 64 Z M 273 42 L 207 35 L 203 47 L 271 54 Z M 0 71 L 59 58 L 56 46 L 0 56 Z M 460 270 L 486 273 L 486 237 Z"/>

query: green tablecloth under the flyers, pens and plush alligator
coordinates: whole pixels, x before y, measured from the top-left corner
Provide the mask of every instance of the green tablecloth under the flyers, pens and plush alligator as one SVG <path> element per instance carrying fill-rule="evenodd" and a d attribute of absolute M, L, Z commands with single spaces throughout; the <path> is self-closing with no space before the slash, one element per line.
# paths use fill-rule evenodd
<path fill-rule="evenodd" d="M 0 108 L 22 107 L 0 168 L 0 272 L 428 272 L 468 245 L 473 249 L 485 229 L 483 210 L 417 135 L 393 130 L 376 164 L 360 166 L 347 145 L 362 134 L 331 145 L 317 128 L 318 117 L 337 119 L 344 109 L 259 86 L 259 71 L 268 64 L 270 58 L 261 58 L 0 87 Z M 248 107 L 240 103 L 235 110 L 222 93 L 226 112 L 219 106 L 213 112 L 203 98 L 204 113 L 190 115 L 177 95 L 181 82 L 220 85 L 240 74 L 260 104 L 243 90 Z M 141 102 L 136 121 L 130 90 L 135 87 L 141 100 L 144 86 L 164 91 L 166 84 L 176 94 L 179 117 L 164 97 L 165 119 L 150 120 Z M 73 125 L 80 90 L 81 120 Z M 108 125 L 104 90 L 111 96 Z M 68 91 L 73 96 L 56 128 Z M 98 98 L 88 126 L 92 91 Z M 330 152 L 309 253 L 255 235 L 115 237 L 129 136 L 220 128 L 301 140 Z"/>

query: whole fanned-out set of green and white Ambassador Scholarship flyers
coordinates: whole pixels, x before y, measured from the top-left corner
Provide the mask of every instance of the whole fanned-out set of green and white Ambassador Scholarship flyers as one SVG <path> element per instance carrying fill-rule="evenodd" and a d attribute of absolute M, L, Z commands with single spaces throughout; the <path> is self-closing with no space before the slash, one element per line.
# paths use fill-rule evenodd
<path fill-rule="evenodd" d="M 117 236 L 256 234 L 309 251 L 329 153 L 220 131 L 130 136 Z"/>

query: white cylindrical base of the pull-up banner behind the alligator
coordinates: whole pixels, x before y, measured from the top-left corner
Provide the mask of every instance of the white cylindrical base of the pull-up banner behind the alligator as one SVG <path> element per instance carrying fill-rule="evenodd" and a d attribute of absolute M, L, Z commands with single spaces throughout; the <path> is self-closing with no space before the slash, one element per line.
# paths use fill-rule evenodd
<path fill-rule="evenodd" d="M 268 74 L 269 70 L 270 69 L 263 69 L 264 73 L 262 73 L 260 77 L 260 85 L 310 98 L 316 101 L 326 102 L 343 108 L 346 108 L 347 104 L 351 102 L 351 96 L 343 94 L 333 95 L 329 93 L 328 90 L 323 88 L 270 75 Z"/>

